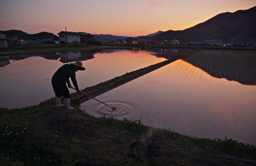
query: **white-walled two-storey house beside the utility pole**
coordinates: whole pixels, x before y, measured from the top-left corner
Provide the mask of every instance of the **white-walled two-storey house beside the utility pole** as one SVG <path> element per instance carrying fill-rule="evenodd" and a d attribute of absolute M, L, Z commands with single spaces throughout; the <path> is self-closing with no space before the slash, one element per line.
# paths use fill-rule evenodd
<path fill-rule="evenodd" d="M 65 41 L 66 43 L 81 43 L 80 34 L 77 32 L 59 32 L 60 41 Z"/>

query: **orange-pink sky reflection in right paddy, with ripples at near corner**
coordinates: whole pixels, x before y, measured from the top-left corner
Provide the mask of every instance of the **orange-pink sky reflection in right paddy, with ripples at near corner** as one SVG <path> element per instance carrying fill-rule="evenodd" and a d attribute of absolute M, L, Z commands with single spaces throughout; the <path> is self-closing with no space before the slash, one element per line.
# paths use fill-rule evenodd
<path fill-rule="evenodd" d="M 256 145 L 256 86 L 218 79 L 178 60 L 96 98 L 107 104 L 125 103 L 135 113 L 106 116 L 132 120 L 180 134 L 232 138 Z M 90 99 L 81 107 L 102 116 L 101 103 Z"/>

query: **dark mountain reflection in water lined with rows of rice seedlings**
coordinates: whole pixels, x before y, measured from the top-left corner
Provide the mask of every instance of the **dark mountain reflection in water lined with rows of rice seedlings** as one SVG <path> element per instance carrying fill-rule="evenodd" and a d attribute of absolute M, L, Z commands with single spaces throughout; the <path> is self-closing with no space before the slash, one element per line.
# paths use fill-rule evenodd
<path fill-rule="evenodd" d="M 255 52 L 199 51 L 182 60 L 216 78 L 226 78 L 243 85 L 256 85 Z"/>

